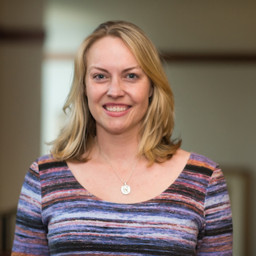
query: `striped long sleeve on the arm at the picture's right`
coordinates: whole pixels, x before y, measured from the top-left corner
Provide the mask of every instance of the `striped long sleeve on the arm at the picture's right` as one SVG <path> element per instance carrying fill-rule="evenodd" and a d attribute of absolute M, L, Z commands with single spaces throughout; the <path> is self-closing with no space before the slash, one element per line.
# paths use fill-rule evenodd
<path fill-rule="evenodd" d="M 217 167 L 209 181 L 205 204 L 205 225 L 199 234 L 197 256 L 232 256 L 232 216 L 223 173 Z"/>

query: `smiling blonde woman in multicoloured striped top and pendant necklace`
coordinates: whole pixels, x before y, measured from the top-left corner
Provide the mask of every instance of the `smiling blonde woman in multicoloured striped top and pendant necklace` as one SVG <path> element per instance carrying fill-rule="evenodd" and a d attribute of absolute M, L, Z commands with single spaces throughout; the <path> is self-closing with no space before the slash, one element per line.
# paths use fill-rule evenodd
<path fill-rule="evenodd" d="M 135 25 L 101 24 L 81 45 L 52 155 L 31 165 L 12 255 L 232 255 L 217 164 L 170 140 L 173 95 Z"/>

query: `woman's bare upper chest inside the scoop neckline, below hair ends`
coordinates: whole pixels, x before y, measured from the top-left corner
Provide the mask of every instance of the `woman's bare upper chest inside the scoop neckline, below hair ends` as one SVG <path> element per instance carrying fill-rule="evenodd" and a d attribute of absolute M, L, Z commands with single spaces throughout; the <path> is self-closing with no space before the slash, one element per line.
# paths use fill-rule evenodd
<path fill-rule="evenodd" d="M 134 204 L 155 198 L 169 188 L 186 162 L 173 165 L 171 161 L 166 161 L 150 167 L 146 164 L 141 161 L 136 169 L 116 170 L 104 160 L 103 163 L 68 163 L 68 167 L 81 186 L 94 196 L 108 202 Z M 128 193 L 124 187 L 128 187 Z"/>

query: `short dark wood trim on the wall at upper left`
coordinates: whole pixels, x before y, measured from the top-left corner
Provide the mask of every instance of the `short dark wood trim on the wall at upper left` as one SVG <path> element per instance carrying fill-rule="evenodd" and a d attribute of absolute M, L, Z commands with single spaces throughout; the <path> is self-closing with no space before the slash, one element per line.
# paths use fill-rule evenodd
<path fill-rule="evenodd" d="M 19 29 L 0 28 L 0 42 L 44 42 L 45 32 L 43 29 Z"/>

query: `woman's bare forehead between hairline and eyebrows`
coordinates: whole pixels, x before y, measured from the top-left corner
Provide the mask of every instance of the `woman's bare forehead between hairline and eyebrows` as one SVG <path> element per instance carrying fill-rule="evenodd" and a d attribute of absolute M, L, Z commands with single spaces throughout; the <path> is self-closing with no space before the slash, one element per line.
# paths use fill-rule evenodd
<path fill-rule="evenodd" d="M 119 37 L 106 36 L 97 40 L 86 54 L 87 68 L 94 65 L 118 66 L 139 65 L 134 54 Z"/>

